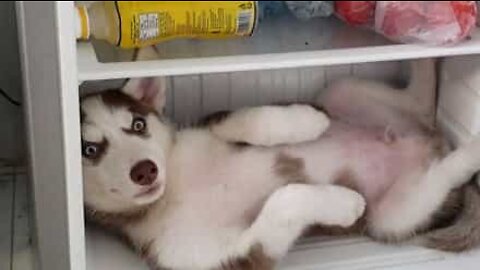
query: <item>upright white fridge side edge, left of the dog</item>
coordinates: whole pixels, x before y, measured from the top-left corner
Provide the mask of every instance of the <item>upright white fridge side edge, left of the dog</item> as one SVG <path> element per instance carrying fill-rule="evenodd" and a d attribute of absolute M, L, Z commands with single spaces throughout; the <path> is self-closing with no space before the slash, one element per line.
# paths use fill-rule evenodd
<path fill-rule="evenodd" d="M 37 269 L 85 270 L 73 2 L 17 2 Z"/>

